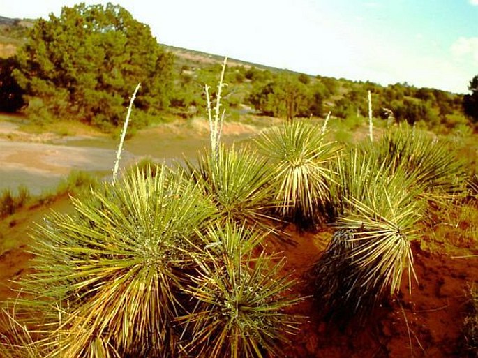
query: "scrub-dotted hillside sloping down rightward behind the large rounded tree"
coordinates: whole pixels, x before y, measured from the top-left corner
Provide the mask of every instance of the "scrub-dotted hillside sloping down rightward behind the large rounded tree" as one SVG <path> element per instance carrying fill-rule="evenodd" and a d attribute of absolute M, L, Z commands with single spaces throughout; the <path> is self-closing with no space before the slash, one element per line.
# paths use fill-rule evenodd
<path fill-rule="evenodd" d="M 0 57 L 10 57 L 27 36 L 32 20 L 0 17 Z M 202 116 L 205 107 L 204 84 L 213 94 L 223 57 L 195 50 L 164 45 L 174 55 L 174 87 L 170 92 L 170 114 L 181 118 Z M 229 59 L 224 104 L 228 118 L 244 119 L 244 114 L 271 117 L 332 117 L 351 122 L 368 114 L 367 91 L 372 93 L 374 117 L 408 121 L 436 133 L 463 133 L 473 130 L 463 115 L 463 96 L 407 83 L 382 86 L 253 64 Z M 285 87 L 284 87 L 285 86 Z M 299 93 L 294 110 L 281 108 L 285 98 L 271 98 L 276 91 Z"/>

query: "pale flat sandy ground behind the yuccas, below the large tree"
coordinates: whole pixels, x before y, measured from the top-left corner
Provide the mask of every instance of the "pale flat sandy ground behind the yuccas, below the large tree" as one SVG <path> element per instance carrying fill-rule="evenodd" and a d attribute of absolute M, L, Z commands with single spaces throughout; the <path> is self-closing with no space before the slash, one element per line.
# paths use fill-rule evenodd
<path fill-rule="evenodd" d="M 124 144 L 121 165 L 142 157 L 171 163 L 183 157 L 195 158 L 207 147 L 209 128 L 204 119 L 187 124 L 164 124 L 140 130 Z M 224 142 L 250 137 L 257 131 L 246 124 L 226 123 Z M 29 134 L 10 121 L 0 121 L 0 190 L 17 191 L 26 186 L 33 195 L 53 188 L 71 170 L 106 174 L 116 158 L 117 140 L 112 137 L 76 135 L 61 137 L 54 133 Z"/>

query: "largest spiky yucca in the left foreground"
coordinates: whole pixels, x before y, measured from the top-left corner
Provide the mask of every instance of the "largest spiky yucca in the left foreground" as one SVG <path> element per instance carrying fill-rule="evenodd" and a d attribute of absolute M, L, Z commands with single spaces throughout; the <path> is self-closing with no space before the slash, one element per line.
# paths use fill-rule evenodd
<path fill-rule="evenodd" d="M 47 357 L 177 357 L 173 321 L 193 264 L 194 237 L 214 208 L 188 180 L 160 166 L 73 200 L 33 235 L 23 283 L 47 323 Z"/>

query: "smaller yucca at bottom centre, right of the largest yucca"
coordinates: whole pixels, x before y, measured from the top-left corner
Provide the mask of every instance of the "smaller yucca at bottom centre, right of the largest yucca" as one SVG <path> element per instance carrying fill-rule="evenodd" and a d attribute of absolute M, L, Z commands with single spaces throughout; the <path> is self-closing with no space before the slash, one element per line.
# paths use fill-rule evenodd
<path fill-rule="evenodd" d="M 280 274 L 283 260 L 254 253 L 263 237 L 230 221 L 202 236 L 204 254 L 184 289 L 195 304 L 180 318 L 193 357 L 269 357 L 297 333 L 299 318 L 285 308 L 301 298 L 289 292 L 294 281 Z"/>

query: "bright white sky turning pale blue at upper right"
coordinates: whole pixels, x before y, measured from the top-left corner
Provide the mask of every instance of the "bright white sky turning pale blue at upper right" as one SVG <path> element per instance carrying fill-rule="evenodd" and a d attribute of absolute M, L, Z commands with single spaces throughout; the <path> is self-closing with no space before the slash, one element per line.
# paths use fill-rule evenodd
<path fill-rule="evenodd" d="M 77 2 L 0 0 L 0 15 L 47 17 Z M 459 93 L 478 75 L 478 0 L 112 2 L 160 43 L 311 75 Z"/>

